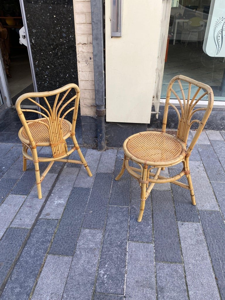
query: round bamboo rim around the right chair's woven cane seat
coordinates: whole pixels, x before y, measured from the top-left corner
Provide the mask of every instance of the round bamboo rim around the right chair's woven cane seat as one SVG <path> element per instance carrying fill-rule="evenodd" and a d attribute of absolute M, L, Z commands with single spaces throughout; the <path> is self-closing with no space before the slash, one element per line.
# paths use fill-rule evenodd
<path fill-rule="evenodd" d="M 135 157 L 133 154 L 131 154 L 128 149 L 127 149 L 127 143 L 130 139 L 132 139 L 133 137 L 136 137 L 140 134 L 150 134 L 150 133 L 160 133 L 160 134 L 164 134 L 165 136 L 167 137 L 170 137 L 170 138 L 173 138 L 174 140 L 176 140 L 178 143 L 180 143 L 181 147 L 182 147 L 182 152 L 181 154 L 170 160 L 170 161 L 146 161 L 146 160 L 142 160 L 140 158 L 137 158 Z M 124 150 L 124 153 L 126 155 L 126 157 L 128 157 L 129 159 L 131 159 L 132 161 L 136 162 L 136 163 L 139 163 L 139 164 L 146 164 L 148 166 L 155 166 L 155 167 L 169 167 L 169 166 L 173 166 L 173 165 L 176 165 L 176 164 L 179 164 L 181 161 L 183 161 L 184 157 L 186 156 L 186 151 L 187 151 L 187 148 L 186 148 L 186 145 L 185 143 L 183 143 L 181 140 L 179 140 L 177 137 L 174 137 L 173 135 L 171 134 L 167 134 L 167 133 L 164 133 L 162 131 L 142 131 L 142 132 L 138 132 L 136 134 L 133 134 L 131 135 L 130 137 L 128 137 L 124 143 L 123 143 L 123 150 Z"/>

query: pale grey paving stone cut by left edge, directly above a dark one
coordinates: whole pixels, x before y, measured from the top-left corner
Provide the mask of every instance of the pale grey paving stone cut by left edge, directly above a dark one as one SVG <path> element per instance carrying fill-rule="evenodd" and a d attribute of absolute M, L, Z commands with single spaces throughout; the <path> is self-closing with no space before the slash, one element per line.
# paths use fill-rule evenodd
<path fill-rule="evenodd" d="M 12 222 L 26 196 L 9 195 L 0 206 L 0 238 Z"/>

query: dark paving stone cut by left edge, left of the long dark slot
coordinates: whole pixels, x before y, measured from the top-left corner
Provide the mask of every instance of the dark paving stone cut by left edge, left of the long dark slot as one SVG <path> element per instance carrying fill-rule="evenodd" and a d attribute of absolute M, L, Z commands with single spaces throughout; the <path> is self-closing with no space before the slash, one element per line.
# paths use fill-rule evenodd
<path fill-rule="evenodd" d="M 26 238 L 28 229 L 9 228 L 0 241 L 0 286 Z"/>

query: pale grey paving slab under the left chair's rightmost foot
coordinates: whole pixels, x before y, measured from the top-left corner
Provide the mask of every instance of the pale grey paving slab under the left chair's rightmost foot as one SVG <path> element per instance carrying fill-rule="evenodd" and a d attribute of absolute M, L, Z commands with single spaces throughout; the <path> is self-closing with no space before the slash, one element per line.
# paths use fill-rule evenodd
<path fill-rule="evenodd" d="M 92 187 L 95 180 L 95 174 L 98 167 L 98 163 L 101 157 L 101 152 L 97 150 L 88 149 L 85 155 L 85 159 L 88 163 L 89 169 L 91 170 L 92 177 L 87 175 L 87 171 L 84 167 L 80 168 L 79 174 L 75 181 L 74 187 Z"/>

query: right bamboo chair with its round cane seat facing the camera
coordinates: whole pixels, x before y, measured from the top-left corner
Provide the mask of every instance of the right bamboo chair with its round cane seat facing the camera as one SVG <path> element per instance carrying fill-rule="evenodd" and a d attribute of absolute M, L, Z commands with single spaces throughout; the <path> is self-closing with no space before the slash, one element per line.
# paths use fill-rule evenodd
<path fill-rule="evenodd" d="M 185 88 L 185 90 L 187 90 L 187 97 L 185 97 L 181 80 L 186 85 L 188 84 L 188 88 Z M 178 87 L 176 86 L 176 91 L 173 89 L 174 83 L 178 83 Z M 196 86 L 197 88 L 195 87 L 196 92 L 191 99 L 190 95 L 192 85 Z M 178 100 L 178 104 L 181 108 L 181 114 L 179 113 L 177 107 L 170 103 L 171 92 Z M 178 95 L 179 92 L 182 95 L 183 101 Z M 200 96 L 198 96 L 199 92 L 201 94 Z M 195 108 L 199 100 L 201 100 L 205 96 L 208 96 L 207 107 Z M 131 176 L 138 180 L 141 187 L 141 205 L 137 220 L 138 222 L 142 220 L 145 201 L 156 183 L 171 182 L 173 184 L 179 185 L 180 187 L 184 187 L 190 190 L 192 204 L 196 204 L 190 175 L 189 157 L 211 113 L 213 100 L 214 95 L 210 86 L 201 82 L 197 82 L 196 80 L 190 79 L 186 76 L 175 76 L 173 79 L 171 79 L 167 88 L 162 131 L 139 132 L 128 137 L 125 140 L 123 144 L 124 161 L 122 169 L 119 175 L 116 177 L 116 180 L 119 180 L 121 178 L 125 169 L 128 171 L 128 173 L 131 174 Z M 179 119 L 176 137 L 166 133 L 169 106 L 175 109 Z M 201 120 L 194 119 L 193 115 L 196 112 L 202 110 L 205 111 L 203 118 Z M 197 128 L 195 136 L 190 143 L 190 146 L 187 148 L 187 138 L 189 130 L 193 123 L 198 123 L 199 126 Z M 135 162 L 139 165 L 140 168 L 131 167 L 129 165 L 129 161 Z M 179 164 L 180 162 L 183 163 L 183 169 L 179 174 L 169 178 L 160 176 L 161 170 L 164 170 L 165 167 L 171 167 Z M 157 169 L 156 172 L 152 173 L 152 169 L 155 168 Z M 177 181 L 184 175 L 187 177 L 188 184 Z"/>

